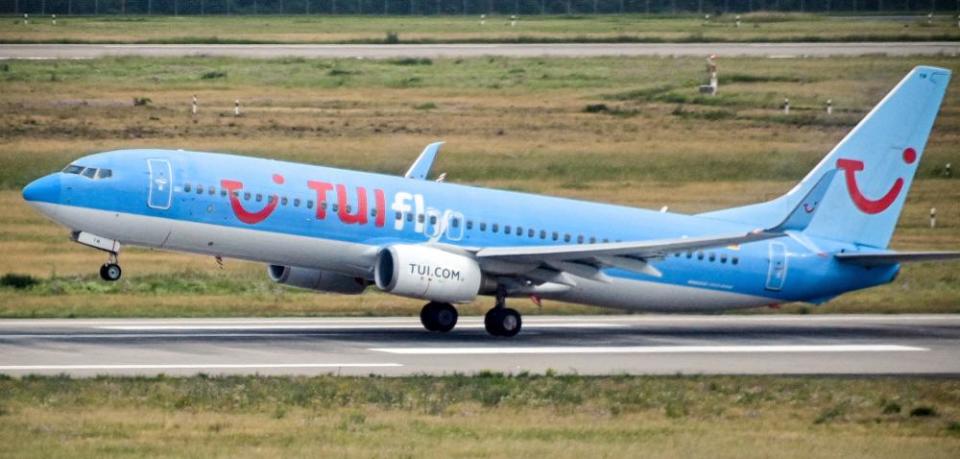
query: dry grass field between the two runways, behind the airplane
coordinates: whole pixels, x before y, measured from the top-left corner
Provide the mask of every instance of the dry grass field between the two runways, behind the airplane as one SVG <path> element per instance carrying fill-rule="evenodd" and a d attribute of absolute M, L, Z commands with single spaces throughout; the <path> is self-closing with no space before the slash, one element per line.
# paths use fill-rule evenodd
<path fill-rule="evenodd" d="M 169 147 L 401 173 L 443 139 L 449 180 L 698 212 L 788 190 L 912 66 L 938 57 L 724 59 L 717 97 L 692 58 L 235 60 L 0 63 L 0 316 L 412 314 L 419 301 L 273 286 L 263 267 L 130 250 L 125 280 L 96 280 L 103 255 L 67 241 L 20 199 L 29 180 L 84 154 Z M 894 246 L 960 247 L 960 90 L 948 92 Z M 200 113 L 189 114 L 190 98 Z M 779 109 L 789 97 L 793 111 Z M 134 98 L 148 98 L 134 105 Z M 233 101 L 243 116 L 232 115 Z M 832 99 L 835 113 L 824 103 Z M 587 110 L 602 104 L 605 109 Z M 593 111 L 593 112 L 591 112 Z M 929 229 L 927 213 L 938 209 Z M 958 312 L 956 265 L 908 266 L 890 286 L 789 312 Z M 14 283 L 12 280 L 3 282 Z M 0 284 L 3 284 L 0 283 Z M 479 301 L 465 308 L 480 313 Z M 517 301 L 527 313 L 532 305 Z M 545 313 L 599 312 L 548 303 Z"/>

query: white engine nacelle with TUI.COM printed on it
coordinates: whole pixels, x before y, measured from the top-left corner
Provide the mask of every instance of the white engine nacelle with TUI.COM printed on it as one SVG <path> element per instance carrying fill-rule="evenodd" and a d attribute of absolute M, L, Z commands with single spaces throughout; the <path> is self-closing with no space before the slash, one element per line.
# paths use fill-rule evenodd
<path fill-rule="evenodd" d="M 482 272 L 473 258 L 431 247 L 398 244 L 377 254 L 374 279 L 377 287 L 394 295 L 465 303 L 477 297 Z"/>

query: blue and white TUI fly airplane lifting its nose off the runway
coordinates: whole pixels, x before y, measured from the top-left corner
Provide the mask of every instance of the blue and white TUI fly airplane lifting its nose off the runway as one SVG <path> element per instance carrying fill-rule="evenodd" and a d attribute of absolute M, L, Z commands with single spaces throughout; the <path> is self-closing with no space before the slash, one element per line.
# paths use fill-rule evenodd
<path fill-rule="evenodd" d="M 822 304 L 893 282 L 902 263 L 960 257 L 888 248 L 949 80 L 914 68 L 789 192 L 695 215 L 430 180 L 439 142 L 403 176 L 117 150 L 37 179 L 23 198 L 106 252 L 106 281 L 121 277 L 124 246 L 255 261 L 288 286 L 425 300 L 433 332 L 481 295 L 499 337 L 522 327 L 508 298 L 665 312 Z"/>

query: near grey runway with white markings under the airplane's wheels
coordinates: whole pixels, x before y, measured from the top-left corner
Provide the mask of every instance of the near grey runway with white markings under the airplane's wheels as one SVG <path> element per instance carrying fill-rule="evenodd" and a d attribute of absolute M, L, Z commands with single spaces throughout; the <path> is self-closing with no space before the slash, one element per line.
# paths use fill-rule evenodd
<path fill-rule="evenodd" d="M 960 375 L 960 315 L 0 320 L 0 373 Z"/>

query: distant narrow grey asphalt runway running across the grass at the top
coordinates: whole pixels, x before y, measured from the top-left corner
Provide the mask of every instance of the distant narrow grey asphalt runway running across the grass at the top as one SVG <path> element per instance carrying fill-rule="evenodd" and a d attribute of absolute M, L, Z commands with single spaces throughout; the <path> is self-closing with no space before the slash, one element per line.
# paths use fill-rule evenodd
<path fill-rule="evenodd" d="M 437 45 L 0 45 L 0 59 L 93 59 L 105 56 L 231 56 L 386 59 L 399 57 L 956 56 L 958 42 L 893 43 L 563 43 Z"/>

